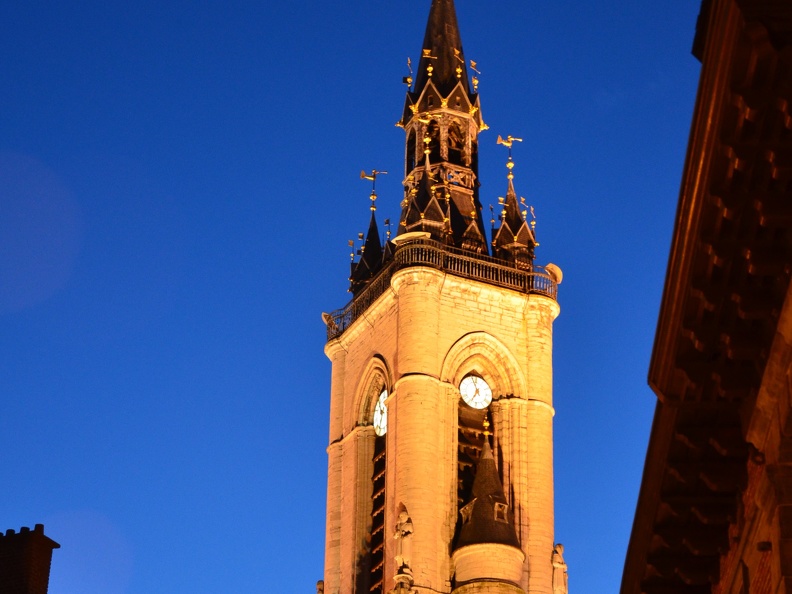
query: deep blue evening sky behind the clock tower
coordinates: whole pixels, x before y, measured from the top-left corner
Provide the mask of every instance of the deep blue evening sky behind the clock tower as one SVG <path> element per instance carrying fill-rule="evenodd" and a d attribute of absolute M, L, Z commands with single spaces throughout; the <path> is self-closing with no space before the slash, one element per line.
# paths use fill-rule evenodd
<path fill-rule="evenodd" d="M 313 592 L 347 240 L 398 219 L 429 0 L 0 3 L 0 529 L 51 594 Z M 556 538 L 616 592 L 699 64 L 698 0 L 457 0 L 481 197 L 564 271 Z M 487 217 L 488 218 L 488 217 Z"/>

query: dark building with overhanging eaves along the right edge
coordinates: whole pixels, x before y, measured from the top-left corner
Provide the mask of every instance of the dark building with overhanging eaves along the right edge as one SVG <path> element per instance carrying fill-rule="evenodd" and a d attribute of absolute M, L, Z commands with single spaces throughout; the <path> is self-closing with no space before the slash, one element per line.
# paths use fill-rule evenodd
<path fill-rule="evenodd" d="M 792 592 L 792 2 L 704 0 L 623 594 Z"/>

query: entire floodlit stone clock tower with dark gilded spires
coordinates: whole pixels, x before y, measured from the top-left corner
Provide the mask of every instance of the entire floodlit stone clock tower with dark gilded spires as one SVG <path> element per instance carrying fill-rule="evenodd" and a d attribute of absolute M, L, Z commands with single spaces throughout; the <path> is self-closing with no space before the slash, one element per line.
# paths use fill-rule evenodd
<path fill-rule="evenodd" d="M 353 299 L 323 316 L 332 386 L 320 586 L 566 592 L 553 534 L 561 273 L 534 265 L 511 156 L 499 224 L 486 239 L 478 179 L 486 126 L 453 0 L 432 1 L 415 80 L 405 82 L 398 231 L 383 242 L 372 202 Z M 510 149 L 513 140 L 499 138 Z"/>

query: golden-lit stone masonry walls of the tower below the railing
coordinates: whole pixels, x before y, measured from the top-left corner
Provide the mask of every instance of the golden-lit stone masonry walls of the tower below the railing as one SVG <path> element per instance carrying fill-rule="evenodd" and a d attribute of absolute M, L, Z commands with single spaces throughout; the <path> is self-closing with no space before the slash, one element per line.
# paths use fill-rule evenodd
<path fill-rule="evenodd" d="M 456 524 L 458 385 L 489 383 L 505 490 L 526 554 L 522 588 L 551 594 L 553 550 L 552 322 L 558 304 L 431 268 L 397 272 L 386 291 L 325 352 L 333 364 L 325 592 L 348 594 L 368 518 L 370 472 L 349 436 L 372 364 L 389 378 L 385 589 L 395 573 L 398 511 L 410 514 L 419 592 L 450 592 Z M 372 363 L 374 362 L 374 363 Z M 361 434 L 362 435 L 362 434 Z M 352 458 L 353 460 L 348 460 Z M 338 467 L 343 468 L 339 476 Z M 368 474 L 367 474 L 368 472 Z M 356 526 L 354 528 L 350 526 Z M 348 576 L 348 577 L 347 577 Z M 343 585 L 343 586 L 342 586 Z M 468 586 L 465 586 L 468 588 Z M 464 592 L 512 592 L 475 590 Z M 462 590 L 460 590 L 462 592 Z"/>

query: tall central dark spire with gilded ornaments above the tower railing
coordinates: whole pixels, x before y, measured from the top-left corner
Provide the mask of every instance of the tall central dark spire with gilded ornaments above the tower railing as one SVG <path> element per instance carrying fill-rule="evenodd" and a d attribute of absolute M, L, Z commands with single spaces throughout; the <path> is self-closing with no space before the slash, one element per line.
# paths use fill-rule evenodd
<path fill-rule="evenodd" d="M 435 241 L 488 254 L 478 191 L 478 134 L 486 127 L 453 0 L 432 0 L 415 75 L 399 122 L 407 134 L 399 233 L 428 231 Z M 427 192 L 429 177 L 443 184 L 439 202 L 434 189 Z"/>

